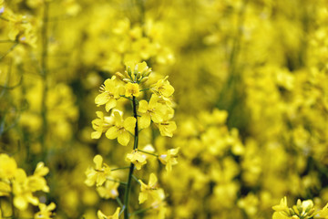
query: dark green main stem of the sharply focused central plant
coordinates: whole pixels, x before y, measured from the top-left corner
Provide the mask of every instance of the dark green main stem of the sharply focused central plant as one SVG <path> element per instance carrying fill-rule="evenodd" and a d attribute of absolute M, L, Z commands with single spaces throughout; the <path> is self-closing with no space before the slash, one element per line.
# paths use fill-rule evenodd
<path fill-rule="evenodd" d="M 134 135 L 134 145 L 133 145 L 133 150 L 138 149 L 138 114 L 137 114 L 137 99 L 135 96 L 132 98 L 132 107 L 133 107 L 133 116 L 136 118 L 136 127 L 135 127 L 135 135 Z M 131 180 L 132 180 L 132 175 L 134 171 L 134 164 L 131 162 L 129 172 L 128 172 L 128 184 L 127 184 L 127 189 L 124 194 L 124 206 L 125 206 L 125 211 L 124 211 L 124 218 L 128 219 L 128 199 L 129 195 L 131 192 Z"/>

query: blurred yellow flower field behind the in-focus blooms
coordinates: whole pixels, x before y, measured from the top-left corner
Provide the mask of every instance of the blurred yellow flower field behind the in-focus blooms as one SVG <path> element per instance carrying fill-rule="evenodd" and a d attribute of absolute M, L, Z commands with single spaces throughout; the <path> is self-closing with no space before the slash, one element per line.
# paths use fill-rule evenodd
<path fill-rule="evenodd" d="M 179 164 L 138 172 L 158 173 L 167 218 L 272 218 L 285 195 L 328 202 L 328 1 L 4 0 L 0 8 L 0 152 L 29 174 L 46 163 L 50 193 L 36 195 L 56 203 L 56 218 L 117 207 L 84 181 L 96 154 L 128 163 L 130 148 L 90 135 L 99 86 L 130 60 L 175 88 L 178 130 L 172 138 L 145 130 L 140 145 L 179 147 Z"/>

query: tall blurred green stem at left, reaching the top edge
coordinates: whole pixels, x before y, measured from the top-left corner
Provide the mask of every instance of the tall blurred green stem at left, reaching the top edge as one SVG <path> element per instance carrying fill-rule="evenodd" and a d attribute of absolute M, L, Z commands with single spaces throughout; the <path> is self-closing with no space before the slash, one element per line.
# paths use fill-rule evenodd
<path fill-rule="evenodd" d="M 46 132 L 47 132 L 47 122 L 46 122 L 46 93 L 47 93 L 47 57 L 48 57 L 48 2 L 45 2 L 44 15 L 43 15 L 43 26 L 42 26 L 42 56 L 41 56 L 41 75 L 43 78 L 43 90 L 42 90 L 42 130 L 43 133 L 40 136 L 40 142 L 42 147 L 42 158 L 46 160 Z"/>

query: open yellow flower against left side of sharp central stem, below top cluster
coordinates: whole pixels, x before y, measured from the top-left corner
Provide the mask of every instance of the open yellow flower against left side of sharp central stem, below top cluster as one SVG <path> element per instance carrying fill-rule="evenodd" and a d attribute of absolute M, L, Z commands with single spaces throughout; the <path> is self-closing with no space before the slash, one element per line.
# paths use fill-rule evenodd
<path fill-rule="evenodd" d="M 128 117 L 126 120 L 123 120 L 118 111 L 114 112 L 114 117 L 115 125 L 108 129 L 106 137 L 110 140 L 118 138 L 118 143 L 127 146 L 130 139 L 128 131 L 134 134 L 136 118 Z"/>

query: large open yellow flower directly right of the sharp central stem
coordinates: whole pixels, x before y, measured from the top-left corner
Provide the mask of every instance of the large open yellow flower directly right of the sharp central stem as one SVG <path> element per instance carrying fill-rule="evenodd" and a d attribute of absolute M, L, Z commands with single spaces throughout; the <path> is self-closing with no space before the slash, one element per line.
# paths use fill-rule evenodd
<path fill-rule="evenodd" d="M 138 111 L 141 113 L 139 118 L 140 129 L 149 127 L 150 120 L 159 123 L 163 120 L 167 107 L 159 103 L 159 96 L 151 95 L 149 103 L 146 100 L 140 100 Z"/>

